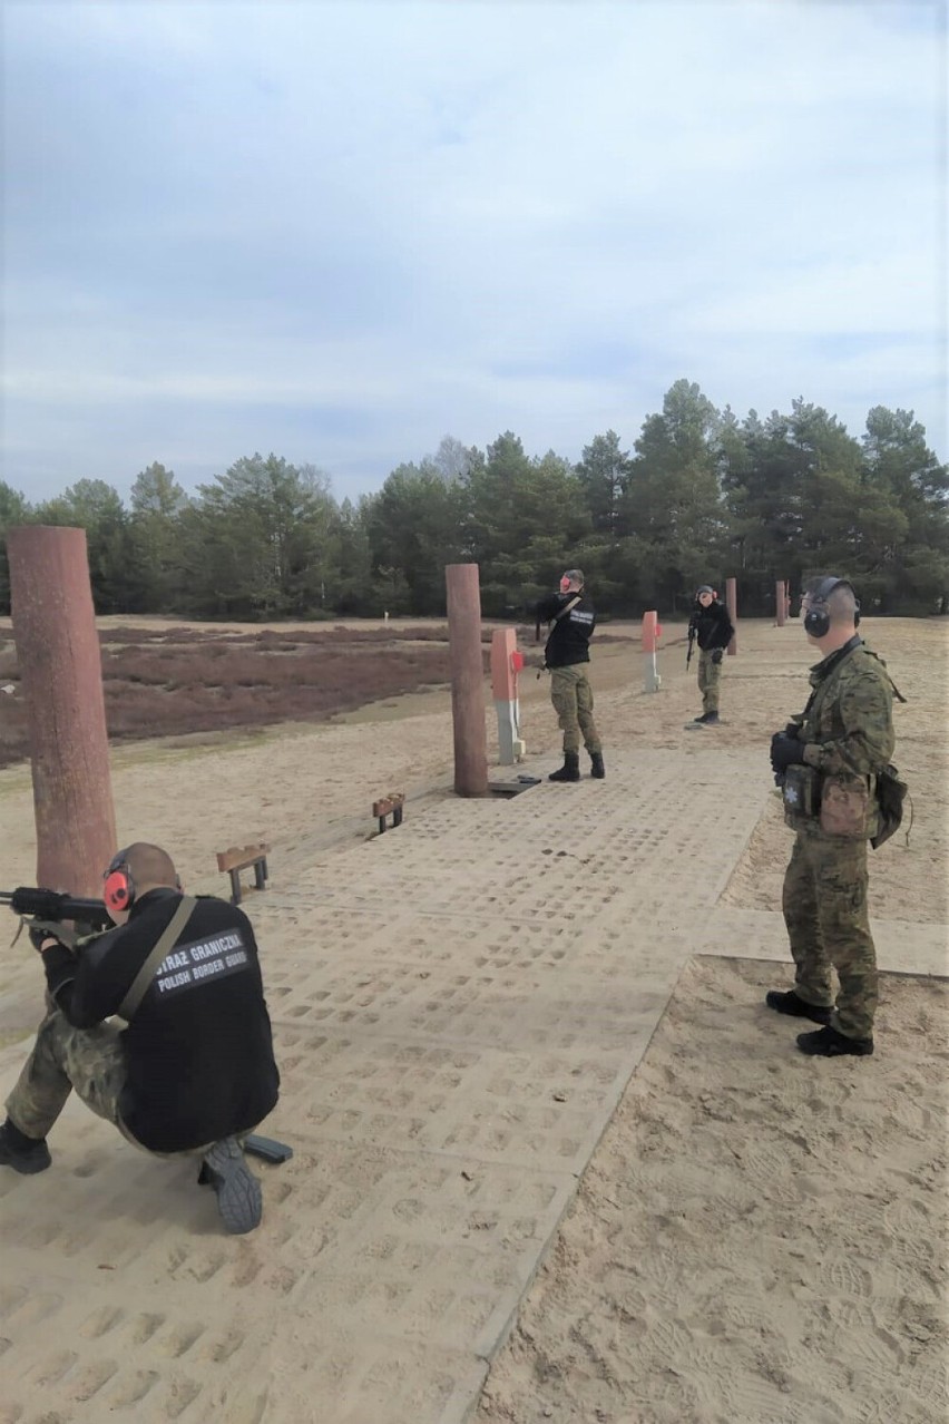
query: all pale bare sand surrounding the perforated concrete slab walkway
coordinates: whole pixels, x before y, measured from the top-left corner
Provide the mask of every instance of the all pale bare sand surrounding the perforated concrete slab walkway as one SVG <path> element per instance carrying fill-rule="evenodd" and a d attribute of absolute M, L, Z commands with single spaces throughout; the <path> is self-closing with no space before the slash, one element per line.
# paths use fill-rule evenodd
<path fill-rule="evenodd" d="M 626 632 L 627 642 L 595 649 L 592 671 L 608 775 L 620 746 L 679 749 L 686 780 L 710 745 L 760 748 L 767 763 L 771 732 L 807 695 L 814 659 L 797 624 L 740 625 L 723 725 L 697 732 L 684 731 L 699 711 L 684 646 L 660 655 L 663 688 L 647 696 Z M 901 833 L 872 856 L 871 909 L 905 924 L 912 964 L 913 926 L 931 943 L 948 920 L 949 629 L 892 619 L 864 632 L 908 698 L 895 760 L 913 826 L 908 843 Z M 682 634 L 670 628 L 667 641 Z M 546 679 L 522 678 L 524 770 L 534 775 L 558 762 L 548 691 Z M 421 815 L 445 795 L 451 765 L 447 691 L 329 725 L 122 746 L 112 756 L 118 834 L 168 844 L 189 887 L 222 893 L 215 852 L 267 839 L 286 884 L 317 847 L 371 834 L 373 797 L 404 790 Z M 4 883 L 33 883 L 27 768 L 0 772 L 0 834 Z M 774 911 L 788 850 L 771 799 L 724 904 Z M 455 873 L 464 883 L 465 867 Z M 0 1042 L 11 1044 L 30 1031 L 37 997 L 21 944 L 0 950 Z M 886 1049 L 872 1062 L 788 1067 L 768 1051 L 773 1025 L 748 1028 L 737 1011 L 771 983 L 774 968 L 748 958 L 696 958 L 680 980 L 494 1364 L 485 1424 L 945 1420 L 945 984 L 906 978 L 885 994 Z"/>

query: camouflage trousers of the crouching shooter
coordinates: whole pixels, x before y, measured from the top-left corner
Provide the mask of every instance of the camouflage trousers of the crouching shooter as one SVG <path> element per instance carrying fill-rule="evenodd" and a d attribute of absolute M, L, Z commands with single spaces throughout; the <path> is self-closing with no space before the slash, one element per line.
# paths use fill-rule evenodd
<path fill-rule="evenodd" d="M 112 1024 L 74 1028 L 58 1008 L 50 1008 L 7 1098 L 7 1115 L 28 1138 L 44 1138 L 75 1091 L 97 1116 L 141 1146 L 118 1112 L 124 1087 L 121 1030 Z"/>

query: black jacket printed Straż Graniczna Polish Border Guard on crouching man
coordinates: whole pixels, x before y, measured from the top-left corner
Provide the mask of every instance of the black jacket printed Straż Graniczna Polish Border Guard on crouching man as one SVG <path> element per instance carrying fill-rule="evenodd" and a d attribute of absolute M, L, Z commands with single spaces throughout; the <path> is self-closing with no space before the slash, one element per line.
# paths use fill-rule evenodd
<path fill-rule="evenodd" d="M 50 993 L 77 1028 L 115 1014 L 178 909 L 151 890 L 128 923 L 43 954 Z M 154 1152 L 182 1152 L 248 1131 L 277 1101 L 270 1018 L 258 946 L 243 910 L 202 896 L 121 1034 L 122 1122 Z"/>

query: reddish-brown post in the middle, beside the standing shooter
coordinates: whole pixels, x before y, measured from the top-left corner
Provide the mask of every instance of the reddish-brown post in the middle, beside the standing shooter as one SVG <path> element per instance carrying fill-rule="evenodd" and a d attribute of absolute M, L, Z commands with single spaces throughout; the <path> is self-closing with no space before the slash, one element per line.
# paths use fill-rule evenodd
<path fill-rule="evenodd" d="M 455 792 L 488 795 L 488 733 L 481 662 L 481 585 L 477 564 L 447 564 L 451 721 L 455 738 Z"/>

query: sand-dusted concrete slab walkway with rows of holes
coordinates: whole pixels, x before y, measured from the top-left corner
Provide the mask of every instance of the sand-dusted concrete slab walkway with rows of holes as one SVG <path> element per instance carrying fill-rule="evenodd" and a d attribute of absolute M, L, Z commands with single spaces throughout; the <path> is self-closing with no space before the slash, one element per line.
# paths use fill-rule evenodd
<path fill-rule="evenodd" d="M 787 958 L 780 914 L 719 904 L 760 759 L 690 773 L 617 752 L 603 783 L 410 809 L 292 884 L 275 860 L 246 909 L 283 1075 L 263 1131 L 295 1156 L 255 1163 L 263 1223 L 222 1235 L 193 1161 L 71 1101 L 53 1169 L 0 1173 L 0 1424 L 470 1418 L 683 965 Z M 925 964 L 875 928 L 885 967 L 945 968 L 942 927 Z"/>

